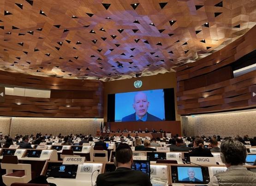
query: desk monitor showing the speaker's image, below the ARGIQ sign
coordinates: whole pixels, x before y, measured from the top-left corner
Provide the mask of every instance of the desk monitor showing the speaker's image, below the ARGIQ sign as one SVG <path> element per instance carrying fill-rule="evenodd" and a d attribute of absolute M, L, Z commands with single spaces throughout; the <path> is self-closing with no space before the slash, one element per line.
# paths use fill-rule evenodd
<path fill-rule="evenodd" d="M 172 166 L 173 183 L 208 184 L 208 167 Z"/>

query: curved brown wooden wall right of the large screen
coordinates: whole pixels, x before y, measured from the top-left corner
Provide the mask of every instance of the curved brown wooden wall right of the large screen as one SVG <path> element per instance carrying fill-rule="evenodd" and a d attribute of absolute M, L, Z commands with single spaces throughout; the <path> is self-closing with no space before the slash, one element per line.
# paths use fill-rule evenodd
<path fill-rule="evenodd" d="M 256 70 L 237 78 L 225 77 L 225 80 L 216 82 L 216 79 L 225 73 L 221 69 L 256 49 L 255 33 L 256 26 L 220 51 L 176 69 L 179 114 L 187 115 L 256 107 L 256 102 L 250 100 L 250 88 L 256 85 Z M 186 81 L 193 78 L 197 81 L 196 83 L 200 84 L 203 80 L 198 77 L 205 78 L 213 71 L 220 71 L 220 73 L 211 76 L 212 84 L 208 82 L 206 86 L 202 85 L 194 89 L 185 85 Z M 226 72 L 230 73 L 230 71 Z"/>

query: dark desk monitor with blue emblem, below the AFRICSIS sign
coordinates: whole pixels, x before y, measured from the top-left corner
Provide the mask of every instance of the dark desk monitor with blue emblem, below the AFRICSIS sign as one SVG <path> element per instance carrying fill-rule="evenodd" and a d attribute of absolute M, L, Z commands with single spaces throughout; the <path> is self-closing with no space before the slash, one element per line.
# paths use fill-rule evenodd
<path fill-rule="evenodd" d="M 46 176 L 75 179 L 77 176 L 77 166 L 78 165 L 63 165 L 61 162 L 49 162 Z"/>

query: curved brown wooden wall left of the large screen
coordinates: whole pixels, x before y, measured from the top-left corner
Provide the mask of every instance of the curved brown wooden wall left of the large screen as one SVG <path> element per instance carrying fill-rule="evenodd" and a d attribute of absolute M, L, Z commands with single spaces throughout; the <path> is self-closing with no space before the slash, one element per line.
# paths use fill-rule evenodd
<path fill-rule="evenodd" d="M 0 84 L 52 90 L 51 98 L 6 95 L 5 102 L 0 103 L 1 116 L 103 118 L 103 83 L 98 80 L 0 71 Z"/>

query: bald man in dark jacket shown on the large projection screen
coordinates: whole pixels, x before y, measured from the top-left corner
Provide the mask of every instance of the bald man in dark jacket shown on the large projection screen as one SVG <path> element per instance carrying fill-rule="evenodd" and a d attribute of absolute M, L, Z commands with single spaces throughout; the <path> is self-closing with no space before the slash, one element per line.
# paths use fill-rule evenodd
<path fill-rule="evenodd" d="M 132 107 L 135 113 L 122 118 L 122 121 L 162 121 L 160 118 L 148 113 L 149 101 L 144 92 L 138 92 L 134 96 Z"/>

